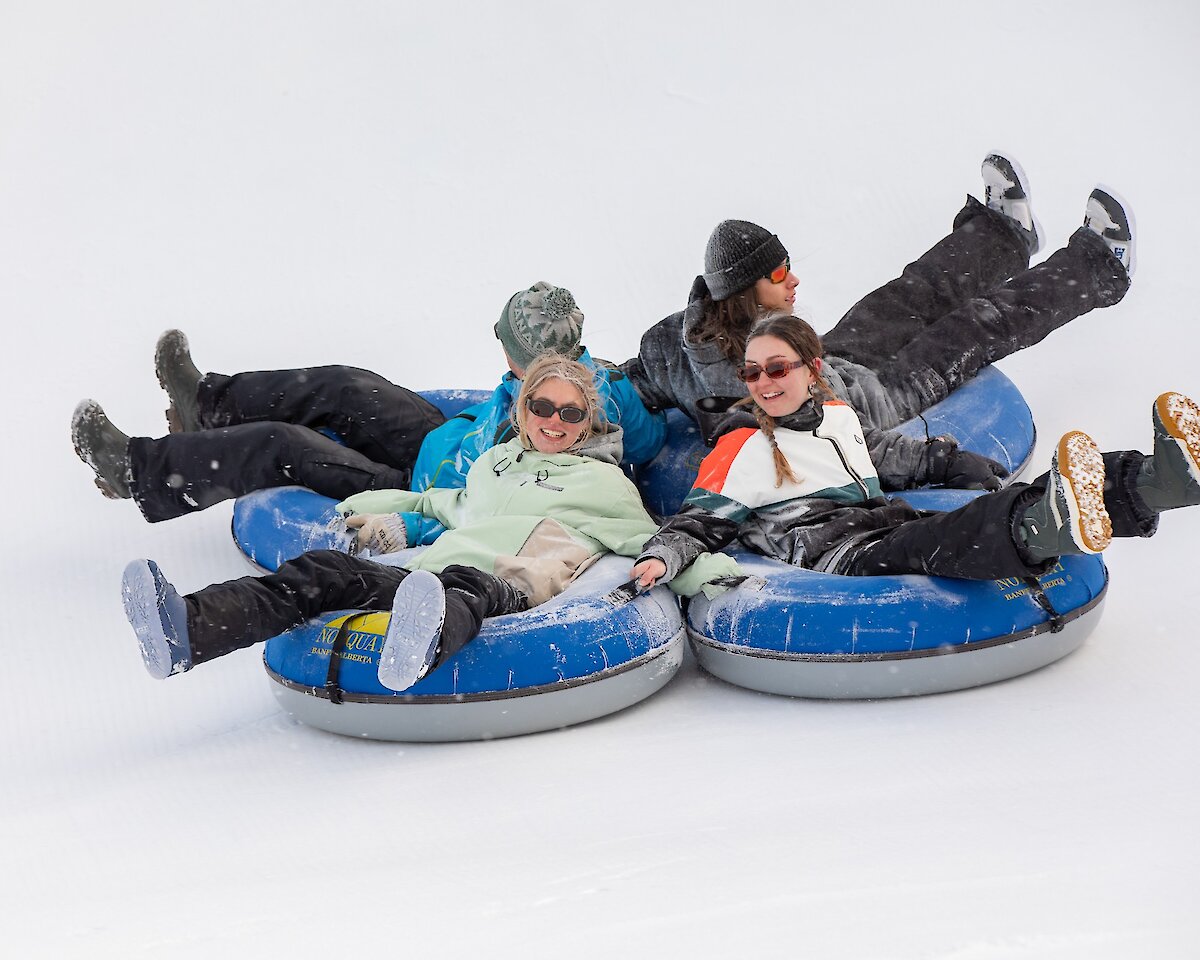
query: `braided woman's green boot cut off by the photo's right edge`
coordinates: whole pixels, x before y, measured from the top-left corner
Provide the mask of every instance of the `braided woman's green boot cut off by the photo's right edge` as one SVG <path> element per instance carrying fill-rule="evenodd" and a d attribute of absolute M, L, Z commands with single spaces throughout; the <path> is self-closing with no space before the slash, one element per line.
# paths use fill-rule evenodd
<path fill-rule="evenodd" d="M 1154 455 L 1141 462 L 1138 493 L 1154 512 L 1200 504 L 1200 406 L 1163 394 L 1152 415 Z"/>

